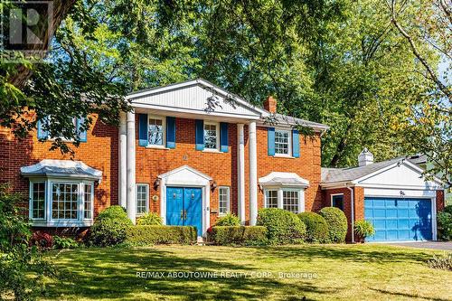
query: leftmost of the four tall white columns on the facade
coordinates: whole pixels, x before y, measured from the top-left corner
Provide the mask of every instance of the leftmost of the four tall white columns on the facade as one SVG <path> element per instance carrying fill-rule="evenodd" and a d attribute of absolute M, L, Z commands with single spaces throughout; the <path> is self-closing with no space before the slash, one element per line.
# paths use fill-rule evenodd
<path fill-rule="evenodd" d="M 126 112 L 119 113 L 119 206 L 127 207 L 127 122 Z"/>

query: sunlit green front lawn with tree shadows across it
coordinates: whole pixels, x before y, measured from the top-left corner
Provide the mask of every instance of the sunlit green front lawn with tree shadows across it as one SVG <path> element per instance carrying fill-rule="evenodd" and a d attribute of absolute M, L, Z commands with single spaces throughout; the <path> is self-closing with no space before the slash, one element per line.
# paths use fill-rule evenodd
<path fill-rule="evenodd" d="M 62 275 L 49 284 L 48 298 L 452 300 L 452 272 L 428 268 L 425 260 L 432 254 L 378 244 L 64 250 L 51 253 Z M 165 272 L 165 277 L 139 278 L 137 271 Z M 218 277 L 167 277 L 177 271 L 211 271 Z M 246 277 L 221 277 L 221 272 L 242 272 Z M 263 272 L 271 275 L 264 277 Z M 279 277 L 279 272 L 313 277 Z"/>

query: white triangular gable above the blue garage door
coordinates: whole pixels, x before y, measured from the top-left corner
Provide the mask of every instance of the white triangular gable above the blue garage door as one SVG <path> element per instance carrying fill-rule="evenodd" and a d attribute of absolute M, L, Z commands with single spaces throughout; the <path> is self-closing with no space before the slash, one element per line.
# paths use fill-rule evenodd
<path fill-rule="evenodd" d="M 438 189 L 440 183 L 426 181 L 422 176 L 422 170 L 415 165 L 403 162 L 392 165 L 377 173 L 368 174 L 356 181 L 363 186 L 387 186 L 387 187 L 412 187 L 413 189 Z"/>

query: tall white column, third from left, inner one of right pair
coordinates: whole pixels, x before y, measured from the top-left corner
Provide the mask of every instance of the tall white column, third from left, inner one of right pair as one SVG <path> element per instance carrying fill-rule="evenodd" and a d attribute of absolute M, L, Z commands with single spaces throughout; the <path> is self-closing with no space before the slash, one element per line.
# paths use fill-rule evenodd
<path fill-rule="evenodd" d="M 245 224 L 245 133 L 243 124 L 237 125 L 237 205 L 239 219 Z"/>

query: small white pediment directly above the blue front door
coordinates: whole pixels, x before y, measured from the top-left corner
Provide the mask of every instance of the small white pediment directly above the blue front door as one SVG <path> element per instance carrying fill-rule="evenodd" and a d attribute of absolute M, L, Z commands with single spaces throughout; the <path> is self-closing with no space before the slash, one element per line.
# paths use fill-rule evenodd
<path fill-rule="evenodd" d="M 178 167 L 165 174 L 160 174 L 158 178 L 164 181 L 166 185 L 203 186 L 212 181 L 212 177 L 207 174 L 202 174 L 200 171 L 188 165 Z"/>

